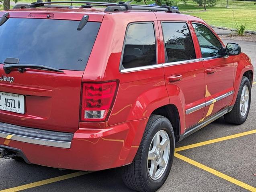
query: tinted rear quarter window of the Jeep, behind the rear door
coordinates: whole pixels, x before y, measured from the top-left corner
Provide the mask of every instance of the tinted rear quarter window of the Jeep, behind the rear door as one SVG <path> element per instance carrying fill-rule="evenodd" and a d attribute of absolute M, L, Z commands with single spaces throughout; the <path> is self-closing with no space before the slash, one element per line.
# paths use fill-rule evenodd
<path fill-rule="evenodd" d="M 153 23 L 131 24 L 127 30 L 122 68 L 156 64 L 156 38 Z"/>

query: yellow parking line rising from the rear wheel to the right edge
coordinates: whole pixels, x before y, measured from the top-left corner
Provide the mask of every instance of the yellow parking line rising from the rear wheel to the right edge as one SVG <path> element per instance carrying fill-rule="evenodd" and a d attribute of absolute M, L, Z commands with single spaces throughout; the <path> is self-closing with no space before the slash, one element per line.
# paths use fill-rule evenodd
<path fill-rule="evenodd" d="M 226 137 L 220 137 L 220 138 L 217 138 L 217 139 L 212 139 L 212 140 L 209 140 L 209 141 L 203 141 L 203 142 L 195 143 L 195 144 L 188 145 L 188 146 L 183 146 L 183 147 L 180 147 L 180 148 L 176 148 L 175 152 L 188 150 L 188 149 L 191 149 L 191 148 L 197 148 L 197 147 L 205 146 L 205 145 L 208 145 L 208 144 L 211 144 L 211 143 L 216 143 L 216 142 L 219 142 L 219 141 L 225 141 L 225 140 L 228 140 L 228 139 L 242 137 L 242 136 L 250 135 L 250 134 L 253 134 L 253 133 L 256 133 L 256 129 L 252 130 L 252 131 L 246 131 L 246 132 L 243 132 L 243 133 L 229 135 L 229 136 L 226 136 Z"/>

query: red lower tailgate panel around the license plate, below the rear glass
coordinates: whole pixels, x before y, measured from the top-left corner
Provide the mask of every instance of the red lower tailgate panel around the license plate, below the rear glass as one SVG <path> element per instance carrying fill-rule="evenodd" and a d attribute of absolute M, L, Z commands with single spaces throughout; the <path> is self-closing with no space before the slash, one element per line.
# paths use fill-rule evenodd
<path fill-rule="evenodd" d="M 83 72 L 58 74 L 28 69 L 25 73 L 12 71 L 5 75 L 3 65 L 0 65 L 0 75 L 14 78 L 12 83 L 0 81 L 0 92 L 24 95 L 25 99 L 24 114 L 0 110 L 1 122 L 63 132 L 78 129 Z M 4 93 L 1 93 L 2 97 Z M 1 100 L 1 105 L 4 104 Z M 15 107 L 14 103 L 12 107 Z"/>

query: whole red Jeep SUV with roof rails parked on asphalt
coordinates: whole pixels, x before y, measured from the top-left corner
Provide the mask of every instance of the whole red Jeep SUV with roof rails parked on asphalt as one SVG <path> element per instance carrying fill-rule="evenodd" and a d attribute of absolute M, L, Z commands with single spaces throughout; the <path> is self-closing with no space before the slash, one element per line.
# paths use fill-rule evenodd
<path fill-rule="evenodd" d="M 0 12 L 0 157 L 122 166 L 129 188 L 155 191 L 175 142 L 222 115 L 246 121 L 250 58 L 203 20 L 165 5 L 72 3 L 82 5 Z"/>

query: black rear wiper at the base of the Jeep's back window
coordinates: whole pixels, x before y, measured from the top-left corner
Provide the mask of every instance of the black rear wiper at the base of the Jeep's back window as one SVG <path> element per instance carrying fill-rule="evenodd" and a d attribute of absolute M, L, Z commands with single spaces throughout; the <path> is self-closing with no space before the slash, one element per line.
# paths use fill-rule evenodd
<path fill-rule="evenodd" d="M 43 70 L 47 70 L 47 71 L 56 71 L 56 72 L 60 72 L 60 73 L 64 73 L 64 71 L 61 71 L 59 69 L 53 68 L 53 67 L 48 67 L 45 65 L 31 65 L 31 64 L 5 64 L 4 65 L 4 71 L 6 74 L 9 74 L 12 69 L 23 69 L 23 70 L 19 70 L 20 72 L 25 71 L 25 68 L 29 68 L 29 69 L 43 69 Z"/>

